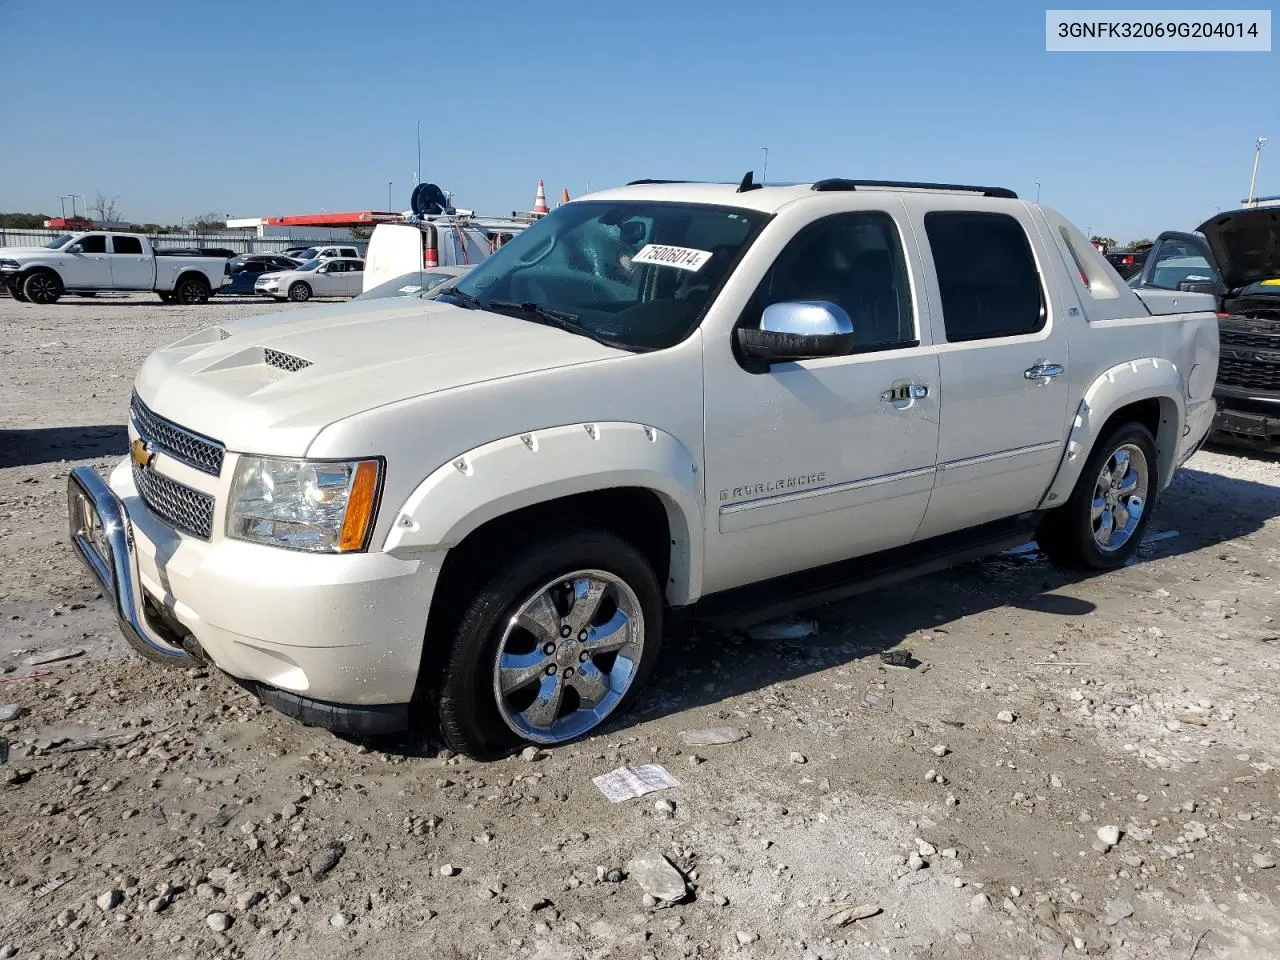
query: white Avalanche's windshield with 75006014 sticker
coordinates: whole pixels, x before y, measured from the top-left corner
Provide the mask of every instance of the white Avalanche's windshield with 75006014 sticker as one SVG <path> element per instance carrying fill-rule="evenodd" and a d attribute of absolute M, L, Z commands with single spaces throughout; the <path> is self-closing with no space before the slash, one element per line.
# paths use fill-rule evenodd
<path fill-rule="evenodd" d="M 566 204 L 451 289 L 486 307 L 535 305 L 570 315 L 590 335 L 628 349 L 662 349 L 698 326 L 768 219 L 701 204 Z"/>

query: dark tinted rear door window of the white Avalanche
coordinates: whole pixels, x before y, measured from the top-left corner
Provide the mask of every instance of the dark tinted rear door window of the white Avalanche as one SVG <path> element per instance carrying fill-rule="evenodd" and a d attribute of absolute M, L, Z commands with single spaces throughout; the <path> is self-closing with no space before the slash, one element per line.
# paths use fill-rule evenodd
<path fill-rule="evenodd" d="M 947 340 L 1015 337 L 1044 325 L 1036 259 L 1014 218 L 936 211 L 925 214 L 924 232 L 938 271 Z"/>

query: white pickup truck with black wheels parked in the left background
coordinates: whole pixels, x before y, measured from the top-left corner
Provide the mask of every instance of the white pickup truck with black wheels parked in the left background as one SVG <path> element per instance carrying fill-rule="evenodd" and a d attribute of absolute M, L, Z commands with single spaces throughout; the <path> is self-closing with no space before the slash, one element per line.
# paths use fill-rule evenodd
<path fill-rule="evenodd" d="M 165 303 L 206 303 L 227 261 L 156 253 L 138 233 L 64 233 L 44 247 L 0 248 L 0 283 L 14 300 L 56 303 L 63 293 L 155 291 Z"/>

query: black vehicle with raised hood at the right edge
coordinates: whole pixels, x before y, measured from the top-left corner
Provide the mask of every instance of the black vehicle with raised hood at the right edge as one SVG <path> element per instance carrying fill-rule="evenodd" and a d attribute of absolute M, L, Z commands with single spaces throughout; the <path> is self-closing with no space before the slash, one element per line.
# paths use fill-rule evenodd
<path fill-rule="evenodd" d="M 1128 283 L 1217 294 L 1212 439 L 1280 451 L 1280 206 L 1228 210 L 1196 230 L 1160 234 Z"/>

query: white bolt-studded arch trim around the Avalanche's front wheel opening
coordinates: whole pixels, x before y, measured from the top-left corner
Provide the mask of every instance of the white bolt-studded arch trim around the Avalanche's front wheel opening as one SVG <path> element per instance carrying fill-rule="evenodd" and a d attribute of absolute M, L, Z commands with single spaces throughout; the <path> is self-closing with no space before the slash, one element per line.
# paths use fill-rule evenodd
<path fill-rule="evenodd" d="M 701 472 L 684 443 L 644 424 L 566 424 L 460 453 L 399 506 L 383 549 L 447 550 L 481 524 L 525 507 L 620 486 L 649 490 L 662 502 L 671 530 L 667 598 L 691 603 L 701 593 Z"/>

